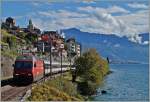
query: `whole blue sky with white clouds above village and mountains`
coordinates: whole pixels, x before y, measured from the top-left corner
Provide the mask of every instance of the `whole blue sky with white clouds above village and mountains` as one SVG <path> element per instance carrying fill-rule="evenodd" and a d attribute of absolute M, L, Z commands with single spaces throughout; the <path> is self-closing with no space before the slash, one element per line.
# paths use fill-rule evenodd
<path fill-rule="evenodd" d="M 3 0 L 2 21 L 13 17 L 26 27 L 32 19 L 44 30 L 77 28 L 84 32 L 115 34 L 141 43 L 148 32 L 148 0 Z"/>

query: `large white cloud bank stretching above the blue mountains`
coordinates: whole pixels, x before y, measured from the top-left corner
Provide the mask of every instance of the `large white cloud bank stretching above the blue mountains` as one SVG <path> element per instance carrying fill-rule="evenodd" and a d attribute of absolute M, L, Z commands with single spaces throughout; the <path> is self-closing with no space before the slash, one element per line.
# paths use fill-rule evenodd
<path fill-rule="evenodd" d="M 111 14 L 118 12 L 125 14 L 119 16 Z M 42 30 L 78 28 L 85 32 L 126 36 L 133 42 L 142 43 L 138 34 L 148 31 L 148 10 L 128 12 L 118 6 L 109 8 L 87 6 L 80 7 L 74 12 L 68 10 L 38 11 L 33 22 Z"/>

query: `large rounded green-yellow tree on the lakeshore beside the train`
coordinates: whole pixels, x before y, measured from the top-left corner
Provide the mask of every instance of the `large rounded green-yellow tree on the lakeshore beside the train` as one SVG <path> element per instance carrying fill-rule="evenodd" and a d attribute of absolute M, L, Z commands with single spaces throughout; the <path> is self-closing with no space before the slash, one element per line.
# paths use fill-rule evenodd
<path fill-rule="evenodd" d="M 103 76 L 108 71 L 108 65 L 105 62 L 95 49 L 90 49 L 75 60 L 75 75 L 82 79 L 82 82 L 79 83 L 81 93 L 93 94 L 96 92 L 96 89 L 103 80 Z"/>

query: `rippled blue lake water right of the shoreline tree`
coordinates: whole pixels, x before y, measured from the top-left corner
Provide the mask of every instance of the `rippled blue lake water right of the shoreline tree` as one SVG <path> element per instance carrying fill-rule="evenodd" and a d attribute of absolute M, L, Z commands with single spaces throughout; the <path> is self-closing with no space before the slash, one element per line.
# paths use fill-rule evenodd
<path fill-rule="evenodd" d="M 110 65 L 112 74 L 108 75 L 98 91 L 95 101 L 148 101 L 149 99 L 149 65 L 148 64 L 114 64 Z"/>

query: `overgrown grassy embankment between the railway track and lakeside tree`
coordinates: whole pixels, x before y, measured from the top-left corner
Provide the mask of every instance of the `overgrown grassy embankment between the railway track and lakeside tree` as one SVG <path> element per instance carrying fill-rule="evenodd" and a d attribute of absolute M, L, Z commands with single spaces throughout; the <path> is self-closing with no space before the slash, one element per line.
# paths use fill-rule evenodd
<path fill-rule="evenodd" d="M 33 86 L 29 101 L 83 101 L 77 91 L 77 84 L 71 82 L 71 74 L 66 73 L 53 80 Z"/>

